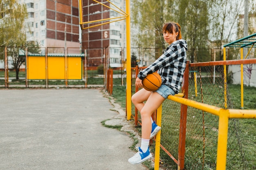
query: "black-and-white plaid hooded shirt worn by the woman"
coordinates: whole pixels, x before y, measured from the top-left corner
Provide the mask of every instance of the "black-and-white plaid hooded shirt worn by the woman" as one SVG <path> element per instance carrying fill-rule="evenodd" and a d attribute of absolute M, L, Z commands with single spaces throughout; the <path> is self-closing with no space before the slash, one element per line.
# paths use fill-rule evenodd
<path fill-rule="evenodd" d="M 182 39 L 173 42 L 153 64 L 139 72 L 139 79 L 157 71 L 162 78 L 162 84 L 178 93 L 186 67 L 187 46 L 186 41 Z"/>

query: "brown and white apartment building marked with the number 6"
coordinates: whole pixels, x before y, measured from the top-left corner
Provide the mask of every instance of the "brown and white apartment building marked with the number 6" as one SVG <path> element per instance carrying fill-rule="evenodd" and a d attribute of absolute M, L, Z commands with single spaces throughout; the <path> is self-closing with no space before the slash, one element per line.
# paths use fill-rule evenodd
<path fill-rule="evenodd" d="M 111 2 L 119 9 L 126 11 L 125 0 L 111 0 Z M 117 9 L 107 1 L 102 3 L 108 7 Z M 120 16 L 117 11 L 114 11 L 104 5 L 92 0 L 83 0 L 84 22 Z M 109 21 L 85 24 L 84 27 L 94 26 L 104 22 Z M 124 58 L 126 58 L 124 53 L 126 46 L 126 20 L 84 29 L 82 35 L 82 46 L 83 49 L 87 49 L 89 66 L 99 66 L 100 64 L 103 64 L 106 59 L 106 55 L 109 54 L 108 62 L 110 67 L 121 68 L 122 63 L 125 60 Z"/>

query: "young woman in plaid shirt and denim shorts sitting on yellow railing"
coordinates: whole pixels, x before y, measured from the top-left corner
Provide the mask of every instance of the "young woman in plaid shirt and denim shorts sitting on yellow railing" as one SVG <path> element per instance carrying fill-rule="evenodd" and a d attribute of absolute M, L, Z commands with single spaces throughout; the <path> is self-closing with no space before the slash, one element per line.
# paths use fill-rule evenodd
<path fill-rule="evenodd" d="M 144 162 L 152 157 L 148 146 L 149 140 L 159 132 L 161 127 L 155 124 L 151 115 L 164 102 L 168 95 L 174 95 L 179 92 L 182 83 L 186 66 L 187 44 L 185 40 L 182 40 L 180 25 L 175 22 L 164 24 L 163 37 L 165 42 L 169 44 L 164 54 L 153 64 L 140 71 L 135 81 L 135 86 L 141 88 L 142 79 L 155 71 L 162 78 L 162 85 L 157 91 L 150 92 L 142 88 L 132 95 L 132 103 L 141 114 L 142 124 L 141 147 L 138 147 L 138 152 L 128 159 L 132 164 Z"/>

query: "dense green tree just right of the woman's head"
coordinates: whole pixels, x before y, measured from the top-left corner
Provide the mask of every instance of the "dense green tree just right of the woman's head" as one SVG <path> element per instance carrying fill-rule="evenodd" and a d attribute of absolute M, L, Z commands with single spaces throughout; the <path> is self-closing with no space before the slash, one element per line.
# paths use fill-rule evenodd
<path fill-rule="evenodd" d="M 197 49 L 205 49 L 208 44 L 208 4 L 202 0 L 176 1 L 177 22 L 180 23 L 182 38 L 188 43 L 188 58 L 195 60 Z"/>

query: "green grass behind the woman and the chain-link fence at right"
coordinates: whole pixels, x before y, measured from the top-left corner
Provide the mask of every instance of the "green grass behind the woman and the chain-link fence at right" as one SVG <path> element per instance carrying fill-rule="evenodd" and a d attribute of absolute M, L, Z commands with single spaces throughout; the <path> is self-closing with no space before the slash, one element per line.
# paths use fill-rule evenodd
<path fill-rule="evenodd" d="M 223 88 L 218 85 L 209 85 L 207 81 L 203 86 L 204 103 L 214 106 L 223 107 Z M 194 93 L 191 89 L 189 96 Z M 240 109 L 240 85 L 229 85 L 229 103 L 233 108 Z M 200 93 L 200 92 L 199 92 Z M 221 94 L 220 94 L 221 93 Z M 116 102 L 123 108 L 126 106 L 126 87 L 114 86 L 113 97 Z M 201 96 L 197 98 L 201 102 Z M 244 109 L 256 109 L 256 88 L 244 87 Z M 167 148 L 177 159 L 177 146 L 179 132 L 175 129 L 179 128 L 180 106 L 172 101 L 163 104 L 162 113 L 162 134 L 161 144 Z M 132 106 L 134 107 L 134 106 Z M 134 110 L 132 111 L 134 112 Z M 203 137 L 202 137 L 202 114 L 204 114 L 205 126 L 205 152 L 202 152 Z M 192 116 L 195 116 L 193 118 Z M 138 128 L 139 131 L 140 128 Z M 215 130 L 216 129 L 216 130 Z M 186 131 L 186 155 L 185 168 L 187 170 L 212 170 L 216 169 L 216 150 L 218 143 L 218 117 L 210 113 L 202 113 L 198 109 L 188 108 L 187 131 Z M 239 148 L 243 148 L 242 152 Z M 256 119 L 230 119 L 229 120 L 229 139 L 227 150 L 227 169 L 256 169 Z M 243 155 L 244 154 L 244 155 Z M 202 159 L 204 155 L 204 159 Z M 161 150 L 160 156 L 164 160 L 164 167 L 177 169 L 177 165 L 173 160 Z M 204 167 L 202 167 L 204 161 Z M 245 168 L 246 167 L 246 168 Z"/>

